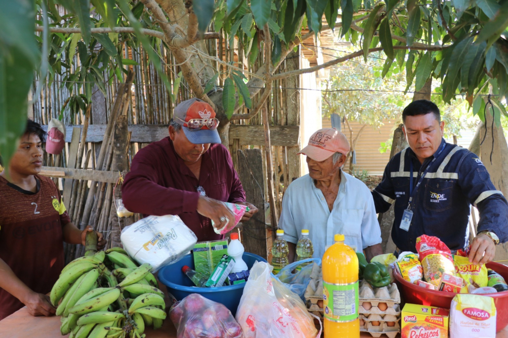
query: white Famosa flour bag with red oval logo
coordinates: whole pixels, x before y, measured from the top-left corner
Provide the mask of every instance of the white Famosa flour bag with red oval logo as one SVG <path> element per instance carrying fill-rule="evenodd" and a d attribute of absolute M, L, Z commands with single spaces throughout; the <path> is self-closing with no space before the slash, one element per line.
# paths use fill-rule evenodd
<path fill-rule="evenodd" d="M 450 338 L 495 336 L 494 299 L 477 294 L 456 294 L 450 307 Z"/>

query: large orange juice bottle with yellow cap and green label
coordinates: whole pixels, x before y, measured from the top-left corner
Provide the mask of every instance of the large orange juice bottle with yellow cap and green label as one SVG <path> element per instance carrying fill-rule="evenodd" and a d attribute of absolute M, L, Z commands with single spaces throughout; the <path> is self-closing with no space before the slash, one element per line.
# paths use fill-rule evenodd
<path fill-rule="evenodd" d="M 335 244 L 323 255 L 323 307 L 325 338 L 359 338 L 358 257 L 335 235 Z"/>

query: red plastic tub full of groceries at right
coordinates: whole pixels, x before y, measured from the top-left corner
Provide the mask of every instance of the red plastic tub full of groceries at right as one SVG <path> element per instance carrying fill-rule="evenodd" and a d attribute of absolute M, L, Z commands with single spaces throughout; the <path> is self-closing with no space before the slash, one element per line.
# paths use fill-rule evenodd
<path fill-rule="evenodd" d="M 508 266 L 490 262 L 487 264 L 487 267 L 493 269 L 501 275 L 504 280 L 508 281 Z M 394 271 L 393 276 L 398 282 L 399 290 L 406 303 L 450 309 L 452 299 L 456 293 L 435 291 L 417 286 L 403 279 L 397 271 Z M 497 310 L 496 332 L 499 332 L 508 325 L 508 291 L 488 293 L 485 295 L 494 298 Z"/>

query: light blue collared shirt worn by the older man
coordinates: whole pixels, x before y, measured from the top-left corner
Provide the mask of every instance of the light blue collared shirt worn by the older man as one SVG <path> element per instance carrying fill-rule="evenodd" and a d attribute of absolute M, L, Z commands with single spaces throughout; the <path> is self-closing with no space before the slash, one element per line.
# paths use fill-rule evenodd
<path fill-rule="evenodd" d="M 323 192 L 315 187 L 309 175 L 293 181 L 282 198 L 279 228 L 284 230 L 284 239 L 296 244 L 302 229 L 308 229 L 314 258 L 323 257 L 337 233 L 343 234 L 344 243 L 357 252 L 381 243 L 381 229 L 369 188 L 342 170 L 340 177 L 331 212 Z"/>

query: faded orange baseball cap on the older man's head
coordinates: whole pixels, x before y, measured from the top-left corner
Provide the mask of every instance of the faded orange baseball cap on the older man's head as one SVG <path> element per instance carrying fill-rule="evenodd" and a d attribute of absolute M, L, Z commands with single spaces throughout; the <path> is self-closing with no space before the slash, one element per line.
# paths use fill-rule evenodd
<path fill-rule="evenodd" d="M 312 134 L 307 147 L 298 154 L 307 155 L 314 161 L 321 162 L 336 152 L 346 155 L 349 151 L 350 145 L 343 133 L 335 128 L 323 128 Z"/>

